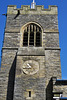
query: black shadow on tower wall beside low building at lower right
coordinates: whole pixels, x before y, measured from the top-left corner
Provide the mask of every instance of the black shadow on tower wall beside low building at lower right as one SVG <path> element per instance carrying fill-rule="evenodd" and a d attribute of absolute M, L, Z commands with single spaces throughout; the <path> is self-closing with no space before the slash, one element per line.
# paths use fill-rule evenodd
<path fill-rule="evenodd" d="M 53 100 L 52 91 L 53 91 L 53 82 L 51 78 L 46 88 L 46 100 Z"/>

